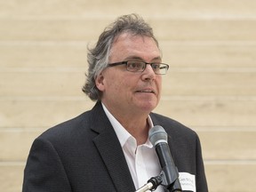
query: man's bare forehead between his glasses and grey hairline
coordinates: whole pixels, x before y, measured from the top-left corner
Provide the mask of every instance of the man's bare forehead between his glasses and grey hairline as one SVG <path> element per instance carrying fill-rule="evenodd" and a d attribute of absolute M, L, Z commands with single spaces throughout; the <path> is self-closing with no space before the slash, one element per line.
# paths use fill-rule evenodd
<path fill-rule="evenodd" d="M 161 58 L 156 41 L 149 36 L 124 33 L 116 37 L 110 50 L 110 61 L 121 61 L 127 58 L 155 60 Z"/>

